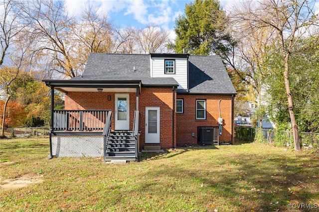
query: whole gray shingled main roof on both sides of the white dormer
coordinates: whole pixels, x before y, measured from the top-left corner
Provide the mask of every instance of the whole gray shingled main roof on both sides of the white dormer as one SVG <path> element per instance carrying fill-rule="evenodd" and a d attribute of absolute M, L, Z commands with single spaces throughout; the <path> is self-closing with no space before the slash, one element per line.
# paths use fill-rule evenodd
<path fill-rule="evenodd" d="M 219 56 L 190 55 L 188 67 L 190 94 L 236 94 Z M 91 53 L 82 76 L 71 80 L 141 80 L 144 86 L 178 84 L 171 77 L 151 78 L 149 54 Z"/>

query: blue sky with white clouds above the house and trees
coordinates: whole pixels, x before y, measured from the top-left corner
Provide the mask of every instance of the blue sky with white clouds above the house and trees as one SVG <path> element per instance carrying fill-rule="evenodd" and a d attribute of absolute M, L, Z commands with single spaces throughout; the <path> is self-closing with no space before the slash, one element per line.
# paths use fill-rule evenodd
<path fill-rule="evenodd" d="M 68 12 L 81 13 L 88 0 L 65 0 Z M 193 0 L 90 0 L 100 11 L 108 14 L 117 27 L 134 26 L 145 28 L 152 23 L 171 32 L 178 15 L 184 13 L 186 3 Z M 235 0 L 220 0 L 223 8 Z"/>

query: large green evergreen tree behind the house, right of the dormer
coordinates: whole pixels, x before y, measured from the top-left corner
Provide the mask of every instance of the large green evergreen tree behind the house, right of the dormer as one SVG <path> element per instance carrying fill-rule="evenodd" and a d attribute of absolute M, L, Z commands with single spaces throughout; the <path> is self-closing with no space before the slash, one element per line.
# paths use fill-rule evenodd
<path fill-rule="evenodd" d="M 176 53 L 227 54 L 233 45 L 226 31 L 227 18 L 218 0 L 195 0 L 175 22 Z"/>

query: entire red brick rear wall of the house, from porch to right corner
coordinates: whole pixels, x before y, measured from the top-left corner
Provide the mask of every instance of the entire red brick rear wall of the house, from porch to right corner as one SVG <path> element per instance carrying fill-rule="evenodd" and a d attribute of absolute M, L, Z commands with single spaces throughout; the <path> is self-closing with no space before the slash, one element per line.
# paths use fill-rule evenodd
<path fill-rule="evenodd" d="M 134 111 L 136 110 L 136 93 L 130 94 L 130 129 L 133 129 Z M 108 101 L 108 95 L 111 101 Z M 174 91 L 176 99 L 176 89 Z M 222 99 L 221 116 L 224 119 L 223 134 L 219 141 L 232 141 L 231 96 L 211 95 L 177 95 L 177 99 L 184 100 L 184 113 L 174 114 L 174 146 L 197 144 L 197 126 L 218 126 L 218 103 Z M 196 99 L 206 99 L 206 120 L 196 120 Z M 69 92 L 65 96 L 65 109 L 105 109 L 114 112 L 115 93 L 106 92 Z M 174 103 L 175 104 L 175 103 Z M 172 144 L 172 88 L 142 88 L 139 95 L 140 110 L 140 149 L 145 146 L 145 108 L 147 106 L 160 107 L 160 147 L 171 148 Z M 112 118 L 114 130 L 114 115 Z M 192 137 L 192 132 L 195 136 Z M 152 145 L 152 144 L 147 144 Z M 158 145 L 158 144 L 154 144 Z"/>

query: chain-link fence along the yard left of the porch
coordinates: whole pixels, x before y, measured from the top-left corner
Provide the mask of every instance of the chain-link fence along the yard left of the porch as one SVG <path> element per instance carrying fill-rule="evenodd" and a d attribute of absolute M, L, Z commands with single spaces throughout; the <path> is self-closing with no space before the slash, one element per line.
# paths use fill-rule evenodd
<path fill-rule="evenodd" d="M 0 127 L 1 129 L 1 127 Z M 36 126 L 36 127 L 10 127 L 4 128 L 5 137 L 44 137 L 49 136 L 49 126 Z"/>

